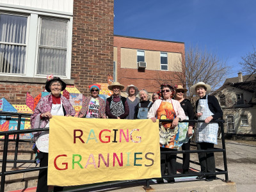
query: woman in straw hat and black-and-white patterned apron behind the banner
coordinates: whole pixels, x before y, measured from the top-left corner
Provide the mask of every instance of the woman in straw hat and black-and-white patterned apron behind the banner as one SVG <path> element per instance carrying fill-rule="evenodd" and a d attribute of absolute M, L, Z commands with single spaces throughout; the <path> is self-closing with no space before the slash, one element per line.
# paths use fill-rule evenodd
<path fill-rule="evenodd" d="M 124 89 L 124 85 L 114 82 L 109 84 L 108 89 L 113 91 L 113 95 L 106 101 L 106 115 L 108 118 L 126 118 L 129 115 L 129 106 L 126 98 L 120 95 L 120 90 Z"/>

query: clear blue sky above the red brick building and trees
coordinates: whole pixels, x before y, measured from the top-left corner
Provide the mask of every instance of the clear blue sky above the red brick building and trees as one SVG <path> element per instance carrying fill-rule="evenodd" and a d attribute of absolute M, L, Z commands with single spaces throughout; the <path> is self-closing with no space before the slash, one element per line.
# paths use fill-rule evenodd
<path fill-rule="evenodd" d="M 184 42 L 213 52 L 241 70 L 256 47 L 255 0 L 115 0 L 114 34 Z"/>

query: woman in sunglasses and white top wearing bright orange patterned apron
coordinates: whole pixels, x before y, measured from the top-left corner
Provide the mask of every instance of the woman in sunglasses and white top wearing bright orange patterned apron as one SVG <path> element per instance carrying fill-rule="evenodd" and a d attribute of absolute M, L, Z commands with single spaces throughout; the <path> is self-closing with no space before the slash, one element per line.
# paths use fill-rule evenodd
<path fill-rule="evenodd" d="M 156 122 L 158 119 L 173 120 L 172 123 L 164 122 L 159 124 L 160 150 L 172 151 L 177 150 L 177 127 L 179 120 L 184 120 L 186 115 L 180 106 L 179 101 L 171 99 L 174 92 L 173 86 L 170 84 L 161 84 L 161 96 L 163 99 L 158 99 L 154 102 L 148 111 L 148 118 Z M 167 163 L 168 175 L 176 174 L 176 159 L 177 154 L 161 154 L 161 174 L 164 175 L 165 161 Z M 163 179 L 157 179 L 157 182 L 163 182 Z M 175 182 L 174 178 L 168 178 L 168 182 Z"/>

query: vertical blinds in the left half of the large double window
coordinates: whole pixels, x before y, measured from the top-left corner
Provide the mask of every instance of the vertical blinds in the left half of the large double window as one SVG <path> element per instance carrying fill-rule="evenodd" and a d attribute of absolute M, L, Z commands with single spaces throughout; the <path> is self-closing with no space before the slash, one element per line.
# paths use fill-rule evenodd
<path fill-rule="evenodd" d="M 24 74 L 27 17 L 0 14 L 0 72 Z"/>

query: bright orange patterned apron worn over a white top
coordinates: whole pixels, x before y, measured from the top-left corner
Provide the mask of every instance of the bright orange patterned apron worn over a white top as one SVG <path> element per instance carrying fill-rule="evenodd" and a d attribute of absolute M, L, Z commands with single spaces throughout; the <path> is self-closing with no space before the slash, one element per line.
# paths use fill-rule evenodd
<path fill-rule="evenodd" d="M 157 118 L 164 120 L 173 120 L 176 116 L 171 102 L 161 102 L 157 109 Z M 160 147 L 178 149 L 179 127 L 173 128 L 170 122 L 161 122 L 159 124 Z"/>

